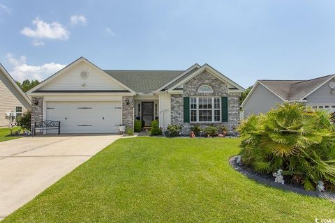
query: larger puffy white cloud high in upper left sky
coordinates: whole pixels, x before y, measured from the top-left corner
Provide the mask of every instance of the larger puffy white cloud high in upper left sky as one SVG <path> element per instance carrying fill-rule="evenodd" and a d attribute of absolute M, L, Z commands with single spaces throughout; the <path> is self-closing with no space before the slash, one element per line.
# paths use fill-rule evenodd
<path fill-rule="evenodd" d="M 34 38 L 33 45 L 43 45 L 42 39 L 68 40 L 70 35 L 70 31 L 58 22 L 47 23 L 36 17 L 32 24 L 36 26 L 35 29 L 24 27 L 21 33 L 24 36 Z"/>

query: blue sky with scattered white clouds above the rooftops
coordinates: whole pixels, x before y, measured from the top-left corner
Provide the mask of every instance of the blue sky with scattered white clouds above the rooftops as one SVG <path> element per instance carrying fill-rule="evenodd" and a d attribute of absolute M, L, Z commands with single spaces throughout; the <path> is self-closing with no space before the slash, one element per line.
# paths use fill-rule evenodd
<path fill-rule="evenodd" d="M 335 1 L 0 0 L 0 62 L 44 79 L 84 56 L 103 69 L 209 63 L 241 86 L 335 73 Z"/>

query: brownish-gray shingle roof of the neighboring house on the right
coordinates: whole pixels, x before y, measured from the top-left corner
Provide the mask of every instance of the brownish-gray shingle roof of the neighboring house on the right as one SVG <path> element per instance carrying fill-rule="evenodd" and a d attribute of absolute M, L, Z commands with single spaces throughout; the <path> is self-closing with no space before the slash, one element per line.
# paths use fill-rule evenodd
<path fill-rule="evenodd" d="M 334 75 L 308 80 L 259 80 L 284 100 L 300 100 Z"/>

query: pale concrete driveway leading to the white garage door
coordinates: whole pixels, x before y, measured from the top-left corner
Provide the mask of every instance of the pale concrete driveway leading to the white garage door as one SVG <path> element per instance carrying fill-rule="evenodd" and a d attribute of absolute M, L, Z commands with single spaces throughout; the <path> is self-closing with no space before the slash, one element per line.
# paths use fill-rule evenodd
<path fill-rule="evenodd" d="M 82 135 L 0 142 L 0 220 L 119 138 Z"/>

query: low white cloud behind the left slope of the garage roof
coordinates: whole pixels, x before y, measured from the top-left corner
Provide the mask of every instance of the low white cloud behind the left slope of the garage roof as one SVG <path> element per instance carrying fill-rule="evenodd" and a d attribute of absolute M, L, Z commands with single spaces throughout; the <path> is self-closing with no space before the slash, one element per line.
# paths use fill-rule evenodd
<path fill-rule="evenodd" d="M 64 64 L 54 62 L 45 63 L 41 66 L 31 66 L 27 64 L 25 56 L 20 56 L 20 59 L 15 59 L 13 54 L 8 53 L 6 57 L 8 62 L 13 65 L 10 75 L 19 82 L 22 82 L 24 79 L 38 79 L 38 81 L 43 81 L 43 79 L 65 67 Z"/>

